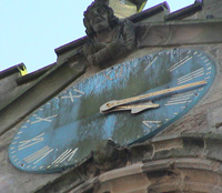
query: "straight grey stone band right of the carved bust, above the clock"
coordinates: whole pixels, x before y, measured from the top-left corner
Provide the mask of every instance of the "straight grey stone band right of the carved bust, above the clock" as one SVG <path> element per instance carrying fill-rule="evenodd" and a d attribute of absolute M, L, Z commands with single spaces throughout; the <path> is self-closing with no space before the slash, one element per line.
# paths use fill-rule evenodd
<path fill-rule="evenodd" d="M 139 48 L 222 42 L 221 19 L 139 26 L 137 31 Z"/>

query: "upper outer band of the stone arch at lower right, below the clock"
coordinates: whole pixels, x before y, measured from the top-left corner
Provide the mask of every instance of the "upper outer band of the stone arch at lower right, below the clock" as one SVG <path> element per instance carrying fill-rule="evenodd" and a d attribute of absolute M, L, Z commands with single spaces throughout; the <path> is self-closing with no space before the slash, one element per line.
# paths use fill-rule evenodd
<path fill-rule="evenodd" d="M 151 160 L 178 158 L 208 158 L 222 162 L 222 150 L 219 144 L 222 144 L 222 135 L 186 133 L 181 135 L 172 135 L 158 138 L 152 140 L 147 145 L 151 145 L 150 152 L 138 152 L 140 159 L 144 162 Z M 132 146 L 134 149 L 134 146 Z M 139 149 L 138 149 L 139 150 Z M 139 160 L 139 158 L 137 158 Z M 132 162 L 133 162 L 132 158 Z"/>

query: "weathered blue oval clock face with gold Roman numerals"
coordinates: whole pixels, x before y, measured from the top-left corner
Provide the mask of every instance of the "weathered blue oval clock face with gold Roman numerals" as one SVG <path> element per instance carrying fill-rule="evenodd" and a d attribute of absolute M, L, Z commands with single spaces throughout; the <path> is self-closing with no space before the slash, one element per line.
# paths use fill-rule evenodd
<path fill-rule="evenodd" d="M 188 49 L 109 68 L 36 110 L 14 135 L 9 159 L 22 171 L 50 173 L 79 163 L 102 140 L 121 145 L 142 142 L 195 105 L 214 75 L 211 58 Z M 149 98 L 139 100 L 141 94 Z M 123 103 L 115 101 L 115 108 L 101 113 L 101 106 L 113 100 Z M 145 108 L 137 112 L 140 106 Z"/>

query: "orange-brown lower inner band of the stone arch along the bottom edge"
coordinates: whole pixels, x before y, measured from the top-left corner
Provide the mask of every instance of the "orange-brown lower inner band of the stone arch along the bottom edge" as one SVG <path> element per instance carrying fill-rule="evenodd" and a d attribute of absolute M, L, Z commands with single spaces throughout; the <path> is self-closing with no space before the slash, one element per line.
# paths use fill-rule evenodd
<path fill-rule="evenodd" d="M 105 172 L 69 193 L 88 193 L 90 191 L 93 193 L 175 191 L 219 193 L 222 190 L 222 175 L 218 173 L 219 170 L 221 171 L 219 162 L 203 159 L 152 161 Z"/>

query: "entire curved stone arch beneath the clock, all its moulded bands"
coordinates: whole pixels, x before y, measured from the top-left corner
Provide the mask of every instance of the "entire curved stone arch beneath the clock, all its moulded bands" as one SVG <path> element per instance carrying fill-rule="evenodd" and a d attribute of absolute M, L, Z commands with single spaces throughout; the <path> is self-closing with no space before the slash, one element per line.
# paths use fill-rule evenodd
<path fill-rule="evenodd" d="M 155 151 L 158 143 L 162 143 L 161 149 Z M 89 158 L 79 166 L 71 169 L 69 175 L 64 174 L 63 177 L 60 177 L 63 181 L 63 183 L 59 183 L 60 189 L 62 186 L 62 190 L 70 190 L 65 181 L 69 181 L 71 173 L 74 174 L 78 171 L 81 182 L 78 184 L 73 181 L 73 189 L 70 193 L 78 191 L 81 193 L 88 193 L 88 191 L 93 193 L 104 193 L 105 191 L 109 193 L 130 193 L 127 189 L 115 189 L 115 186 L 120 182 L 124 184 L 134 180 L 140 184 L 140 187 L 133 186 L 133 183 L 129 184 L 129 187 L 133 186 L 134 192 L 168 190 L 168 187 L 170 191 L 181 189 L 183 191 L 196 191 L 201 187 L 201 184 L 205 185 L 208 193 L 214 190 L 220 192 L 222 190 L 221 144 L 222 135 L 219 134 L 185 133 L 158 138 L 150 142 L 125 148 L 130 158 L 127 165 L 120 169 L 112 169 L 107 172 L 95 170 L 92 158 Z M 90 171 L 92 172 L 90 173 Z M 206 181 L 209 181 L 209 184 Z M 46 190 L 53 192 L 58 190 L 57 182 L 56 180 L 47 184 L 50 189 L 42 187 L 37 192 L 40 193 Z M 192 184 L 193 182 L 194 184 Z M 175 184 L 171 186 L 172 183 Z M 181 183 L 184 186 L 181 186 Z M 74 184 L 78 185 L 74 186 Z M 110 190 L 99 191 L 108 186 Z M 204 192 L 204 190 L 201 189 L 199 192 Z"/>

